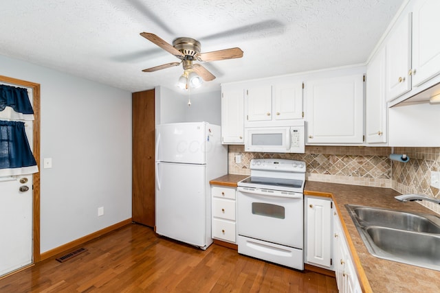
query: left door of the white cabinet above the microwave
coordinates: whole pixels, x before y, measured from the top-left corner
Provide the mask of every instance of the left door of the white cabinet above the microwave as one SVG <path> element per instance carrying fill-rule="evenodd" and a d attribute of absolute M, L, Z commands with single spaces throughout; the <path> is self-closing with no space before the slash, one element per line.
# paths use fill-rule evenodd
<path fill-rule="evenodd" d="M 272 120 L 272 86 L 255 85 L 246 89 L 248 121 Z"/>

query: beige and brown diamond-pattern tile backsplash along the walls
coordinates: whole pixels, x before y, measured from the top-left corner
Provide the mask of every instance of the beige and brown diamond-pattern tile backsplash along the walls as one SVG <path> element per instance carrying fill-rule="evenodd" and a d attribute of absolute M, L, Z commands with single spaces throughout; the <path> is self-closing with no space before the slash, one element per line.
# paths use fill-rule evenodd
<path fill-rule="evenodd" d="M 407 154 L 407 163 L 388 156 Z M 241 162 L 236 163 L 236 156 Z M 440 171 L 440 148 L 343 147 L 307 145 L 305 154 L 245 152 L 243 145 L 229 145 L 230 174 L 250 174 L 251 159 L 293 159 L 305 161 L 307 180 L 349 185 L 389 187 L 401 194 L 425 194 L 440 198 L 440 190 L 430 186 L 430 172 Z M 440 205 L 422 202 L 440 213 Z M 439 207 L 437 207 L 439 206 Z"/>

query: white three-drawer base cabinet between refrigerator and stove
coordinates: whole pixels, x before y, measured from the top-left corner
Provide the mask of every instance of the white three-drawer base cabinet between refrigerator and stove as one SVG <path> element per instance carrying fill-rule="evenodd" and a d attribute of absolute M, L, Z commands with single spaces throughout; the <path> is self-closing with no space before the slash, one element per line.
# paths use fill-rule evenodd
<path fill-rule="evenodd" d="M 211 187 L 212 238 L 236 244 L 236 189 Z"/>

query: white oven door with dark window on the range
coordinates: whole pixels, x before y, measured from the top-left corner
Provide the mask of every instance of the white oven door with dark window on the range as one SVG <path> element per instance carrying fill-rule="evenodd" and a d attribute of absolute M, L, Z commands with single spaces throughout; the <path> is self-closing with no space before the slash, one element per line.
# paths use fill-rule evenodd
<path fill-rule="evenodd" d="M 238 191 L 239 235 L 303 248 L 303 194 L 272 196 L 265 189 L 246 187 Z"/>

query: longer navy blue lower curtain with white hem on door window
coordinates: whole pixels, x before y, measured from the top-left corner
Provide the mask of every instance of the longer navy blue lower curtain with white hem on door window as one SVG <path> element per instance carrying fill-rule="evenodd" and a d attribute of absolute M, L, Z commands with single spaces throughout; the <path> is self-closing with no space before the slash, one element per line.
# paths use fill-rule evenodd
<path fill-rule="evenodd" d="M 0 176 L 32 174 L 39 169 L 21 121 L 0 120 Z"/>

